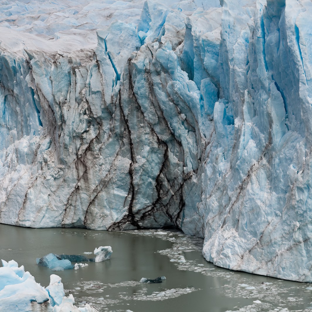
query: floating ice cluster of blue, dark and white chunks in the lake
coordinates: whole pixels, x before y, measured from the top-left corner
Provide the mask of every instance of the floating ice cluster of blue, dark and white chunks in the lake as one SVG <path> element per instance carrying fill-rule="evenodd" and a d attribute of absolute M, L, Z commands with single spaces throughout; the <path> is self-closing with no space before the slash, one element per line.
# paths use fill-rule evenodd
<path fill-rule="evenodd" d="M 79 267 L 88 265 L 82 263 L 72 265 L 71 262 L 102 262 L 110 259 L 112 252 L 111 246 L 100 246 L 99 248 L 95 248 L 94 258 L 87 258 L 86 256 L 81 255 L 55 255 L 50 253 L 42 258 L 37 258 L 36 262 L 39 266 L 46 266 L 52 271 L 63 271 L 68 269 L 78 270 Z"/>

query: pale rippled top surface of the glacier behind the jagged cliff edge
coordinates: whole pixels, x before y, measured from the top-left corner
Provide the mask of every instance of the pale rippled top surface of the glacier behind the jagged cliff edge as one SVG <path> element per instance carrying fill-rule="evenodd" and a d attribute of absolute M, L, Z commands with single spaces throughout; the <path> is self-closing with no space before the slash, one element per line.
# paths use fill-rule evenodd
<path fill-rule="evenodd" d="M 165 4 L 185 17 L 220 7 L 219 0 L 149 0 Z M 120 20 L 138 25 L 145 0 L 2 1 L 0 45 L 10 51 L 95 49 L 96 30 Z"/>

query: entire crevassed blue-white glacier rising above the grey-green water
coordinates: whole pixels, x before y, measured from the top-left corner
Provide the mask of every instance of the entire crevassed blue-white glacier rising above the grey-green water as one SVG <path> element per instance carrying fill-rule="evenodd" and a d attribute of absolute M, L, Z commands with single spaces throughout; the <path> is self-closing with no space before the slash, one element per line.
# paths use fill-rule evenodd
<path fill-rule="evenodd" d="M 178 227 L 312 282 L 311 1 L 3 3 L 1 223 Z"/>

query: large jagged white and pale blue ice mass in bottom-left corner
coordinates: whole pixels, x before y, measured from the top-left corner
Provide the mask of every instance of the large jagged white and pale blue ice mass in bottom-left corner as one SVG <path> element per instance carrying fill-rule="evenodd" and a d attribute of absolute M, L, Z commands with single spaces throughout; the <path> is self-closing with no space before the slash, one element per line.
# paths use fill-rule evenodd
<path fill-rule="evenodd" d="M 58 275 L 51 274 L 50 284 L 44 288 L 28 271 L 25 272 L 24 266 L 18 267 L 14 260 L 2 260 L 0 311 L 98 312 L 88 304 L 79 308 L 74 304 L 73 295 L 65 296 L 63 283 Z"/>

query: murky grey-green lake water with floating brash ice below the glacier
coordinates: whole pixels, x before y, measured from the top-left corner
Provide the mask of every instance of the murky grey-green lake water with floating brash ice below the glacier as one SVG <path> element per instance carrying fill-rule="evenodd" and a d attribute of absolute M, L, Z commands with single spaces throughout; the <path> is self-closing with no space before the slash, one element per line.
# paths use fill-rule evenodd
<path fill-rule="evenodd" d="M 24 265 L 43 286 L 49 285 L 50 274 L 61 276 L 66 295 L 72 293 L 77 306 L 86 301 L 103 312 L 312 311 L 311 284 L 219 268 L 203 258 L 202 243 L 175 230 L 107 232 L 0 224 L 1 259 Z M 82 255 L 107 245 L 113 249 L 110 260 L 76 271 L 52 272 L 36 264 L 36 258 L 50 252 Z M 167 278 L 163 283 L 139 283 L 142 277 L 162 275 Z"/>

